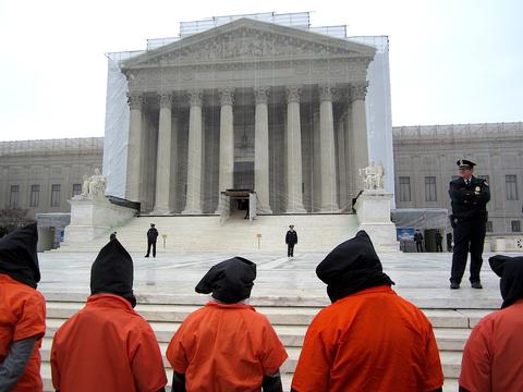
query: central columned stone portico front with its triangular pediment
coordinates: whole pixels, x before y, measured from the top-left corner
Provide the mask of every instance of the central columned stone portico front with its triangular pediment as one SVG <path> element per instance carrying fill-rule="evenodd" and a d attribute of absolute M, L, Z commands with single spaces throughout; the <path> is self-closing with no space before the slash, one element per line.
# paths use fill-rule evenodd
<path fill-rule="evenodd" d="M 251 188 L 258 213 L 350 210 L 368 164 L 375 51 L 240 19 L 122 62 L 124 197 L 143 212 L 202 215 L 220 192 Z"/>

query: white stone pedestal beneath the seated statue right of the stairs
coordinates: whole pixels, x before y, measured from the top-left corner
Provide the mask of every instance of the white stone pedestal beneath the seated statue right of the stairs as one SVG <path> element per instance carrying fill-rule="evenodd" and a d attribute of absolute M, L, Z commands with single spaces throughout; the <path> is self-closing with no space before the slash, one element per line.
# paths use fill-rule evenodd
<path fill-rule="evenodd" d="M 396 225 L 390 221 L 392 194 L 384 189 L 366 189 L 356 200 L 354 209 L 360 230 L 365 230 L 377 252 L 399 252 Z"/>

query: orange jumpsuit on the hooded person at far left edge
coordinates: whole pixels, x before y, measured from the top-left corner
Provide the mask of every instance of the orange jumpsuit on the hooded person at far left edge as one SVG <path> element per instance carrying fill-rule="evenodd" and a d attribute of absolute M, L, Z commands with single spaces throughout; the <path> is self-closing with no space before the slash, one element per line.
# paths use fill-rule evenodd
<path fill-rule="evenodd" d="M 15 392 L 42 390 L 40 345 L 46 333 L 46 301 L 35 289 L 0 274 L 0 363 L 9 354 L 12 342 L 36 338 L 37 342 Z"/>

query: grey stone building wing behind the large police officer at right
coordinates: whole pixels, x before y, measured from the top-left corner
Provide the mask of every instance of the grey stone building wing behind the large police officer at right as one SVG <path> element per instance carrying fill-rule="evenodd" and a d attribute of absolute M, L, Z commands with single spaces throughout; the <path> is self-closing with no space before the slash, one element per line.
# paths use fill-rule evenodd
<path fill-rule="evenodd" d="M 447 208 L 455 161 L 477 163 L 488 177 L 491 233 L 521 232 L 523 213 L 523 123 L 393 127 L 397 208 Z"/>

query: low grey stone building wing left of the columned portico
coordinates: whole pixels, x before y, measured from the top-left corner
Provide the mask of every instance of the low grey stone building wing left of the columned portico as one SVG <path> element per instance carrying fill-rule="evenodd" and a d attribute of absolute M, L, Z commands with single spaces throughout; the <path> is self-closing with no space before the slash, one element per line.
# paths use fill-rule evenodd
<path fill-rule="evenodd" d="M 69 212 L 83 175 L 101 168 L 104 138 L 0 142 L 0 206 Z"/>

